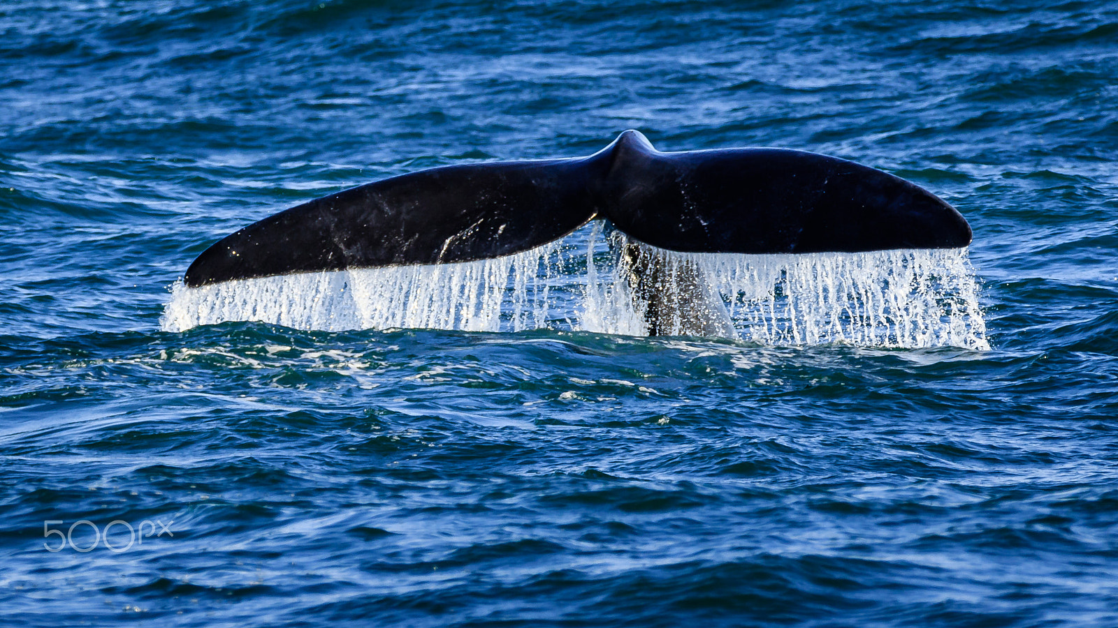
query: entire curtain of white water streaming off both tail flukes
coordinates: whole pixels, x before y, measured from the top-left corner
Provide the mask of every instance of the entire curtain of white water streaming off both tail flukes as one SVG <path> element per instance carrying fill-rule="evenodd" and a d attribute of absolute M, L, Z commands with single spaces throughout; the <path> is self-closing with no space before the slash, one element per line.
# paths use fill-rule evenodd
<path fill-rule="evenodd" d="M 560 242 L 479 261 L 301 273 L 199 288 L 179 283 L 161 323 L 164 331 L 174 332 L 224 321 L 262 321 L 325 331 L 551 327 L 644 335 L 644 311 L 632 296 L 625 265 L 617 263 L 624 236 L 615 232 L 606 246 L 598 246 L 599 236 L 595 223 Z M 666 277 L 676 276 L 678 269 L 704 276 L 747 341 L 989 348 L 965 250 L 646 250 L 663 265 Z M 667 302 L 680 311 L 661 311 L 660 316 L 685 318 L 688 295 L 671 293 Z"/>

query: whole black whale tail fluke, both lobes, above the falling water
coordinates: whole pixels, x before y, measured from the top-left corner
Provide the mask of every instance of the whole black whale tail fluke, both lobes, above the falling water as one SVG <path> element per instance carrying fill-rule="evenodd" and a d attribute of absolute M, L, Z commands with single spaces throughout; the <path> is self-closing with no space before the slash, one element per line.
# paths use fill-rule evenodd
<path fill-rule="evenodd" d="M 955 208 L 880 170 L 780 149 L 663 153 L 625 131 L 586 158 L 433 168 L 305 202 L 222 238 L 184 280 L 473 261 L 541 246 L 595 218 L 685 253 L 970 244 Z"/>

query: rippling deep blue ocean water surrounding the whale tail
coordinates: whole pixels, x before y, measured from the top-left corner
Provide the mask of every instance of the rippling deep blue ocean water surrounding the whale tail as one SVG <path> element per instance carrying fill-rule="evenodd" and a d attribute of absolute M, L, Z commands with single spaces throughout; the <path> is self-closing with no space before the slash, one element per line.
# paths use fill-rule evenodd
<path fill-rule="evenodd" d="M 1118 626 L 1116 103 L 1112 1 L 6 3 L 2 624 Z M 304 200 L 625 129 L 880 168 L 975 239 L 693 260 L 738 339 L 595 318 L 585 231 L 473 326 L 172 292 Z M 950 280 L 908 326 L 741 292 L 821 268 Z"/>

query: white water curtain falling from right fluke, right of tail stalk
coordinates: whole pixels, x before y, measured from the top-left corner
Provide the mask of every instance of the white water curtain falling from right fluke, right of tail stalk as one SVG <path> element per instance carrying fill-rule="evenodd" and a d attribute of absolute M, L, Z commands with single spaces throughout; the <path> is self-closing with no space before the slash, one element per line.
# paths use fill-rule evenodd
<path fill-rule="evenodd" d="M 712 279 L 746 340 L 989 349 L 961 250 L 681 257 Z"/>

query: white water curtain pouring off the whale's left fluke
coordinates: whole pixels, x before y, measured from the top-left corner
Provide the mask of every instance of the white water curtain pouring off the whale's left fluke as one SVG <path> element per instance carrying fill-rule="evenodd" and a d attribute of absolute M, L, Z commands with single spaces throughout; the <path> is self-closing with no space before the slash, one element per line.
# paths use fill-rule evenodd
<path fill-rule="evenodd" d="M 299 330 L 429 327 L 471 332 L 547 327 L 561 249 L 459 264 L 390 266 L 238 279 L 171 289 L 164 331 L 224 321 Z"/>

